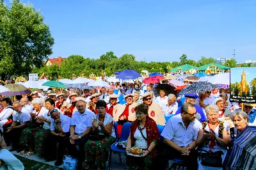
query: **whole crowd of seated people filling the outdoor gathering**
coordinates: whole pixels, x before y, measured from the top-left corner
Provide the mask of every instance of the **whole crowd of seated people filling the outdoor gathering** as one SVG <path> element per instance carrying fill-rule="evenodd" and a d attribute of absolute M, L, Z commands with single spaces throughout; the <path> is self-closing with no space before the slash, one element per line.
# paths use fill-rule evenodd
<path fill-rule="evenodd" d="M 186 94 L 180 106 L 180 98 L 166 96 L 164 89 L 157 93 L 154 84 L 112 84 L 97 91 L 38 89 L 16 96 L 15 102 L 1 98 L 2 139 L 12 145 L 10 151 L 26 157 L 37 154 L 60 166 L 68 154 L 77 158 L 78 169 L 97 165 L 99 170 L 106 167 L 109 148 L 120 138 L 124 123 L 131 122 L 126 151 L 136 146 L 143 155 L 127 155 L 128 169 L 166 169 L 172 158 L 182 158 L 187 169 L 210 169 L 201 164 L 198 153 L 223 151 L 224 160 L 230 140 L 244 127 L 256 125 L 253 105 L 242 108 L 229 102 L 229 89 L 221 88 L 215 97 L 211 91 Z M 120 95 L 125 104 L 119 104 Z M 168 114 L 174 116 L 166 122 Z M 164 126 L 161 134 L 157 125 Z"/>

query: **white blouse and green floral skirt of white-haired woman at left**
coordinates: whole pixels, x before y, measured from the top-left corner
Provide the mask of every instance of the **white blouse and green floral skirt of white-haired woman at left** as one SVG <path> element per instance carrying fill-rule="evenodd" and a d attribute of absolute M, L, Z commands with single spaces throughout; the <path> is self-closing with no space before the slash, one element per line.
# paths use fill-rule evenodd
<path fill-rule="evenodd" d="M 38 116 L 44 116 L 45 119 L 50 120 L 51 116 L 49 111 L 42 107 L 39 112 L 35 110 L 33 113 Z M 50 134 L 50 123 L 44 122 L 44 125 L 36 128 L 25 128 L 22 130 L 20 136 L 20 144 L 28 146 L 29 148 L 35 148 L 35 152 L 42 157 L 44 155 L 44 143 L 47 136 Z"/>

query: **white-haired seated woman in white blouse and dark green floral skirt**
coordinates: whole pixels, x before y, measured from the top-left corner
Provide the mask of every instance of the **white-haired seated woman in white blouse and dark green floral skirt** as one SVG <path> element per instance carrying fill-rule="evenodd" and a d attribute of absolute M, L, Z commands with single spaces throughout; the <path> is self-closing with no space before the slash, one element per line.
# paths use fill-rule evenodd
<path fill-rule="evenodd" d="M 50 134 L 51 116 L 49 111 L 42 107 L 42 100 L 35 98 L 31 102 L 34 111 L 30 113 L 31 120 L 28 128 L 22 130 L 20 144 L 24 146 L 24 150 L 20 155 L 30 156 L 37 153 L 40 157 L 44 154 L 44 143 L 47 136 Z"/>

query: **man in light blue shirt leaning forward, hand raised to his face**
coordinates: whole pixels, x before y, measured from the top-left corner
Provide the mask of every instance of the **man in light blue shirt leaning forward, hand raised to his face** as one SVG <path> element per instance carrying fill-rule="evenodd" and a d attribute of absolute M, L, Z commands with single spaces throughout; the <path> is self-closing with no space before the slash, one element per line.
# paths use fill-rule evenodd
<path fill-rule="evenodd" d="M 70 128 L 70 118 L 66 115 L 60 114 L 57 109 L 53 109 L 49 112 L 51 115 L 51 134 L 47 137 L 45 145 L 47 145 L 48 150 L 51 151 L 51 157 L 45 158 L 46 161 L 56 160 L 56 144 L 58 146 L 57 161 L 54 163 L 55 166 L 60 166 L 63 162 L 63 154 L 65 150 L 64 141 L 69 139 L 69 128 Z"/>

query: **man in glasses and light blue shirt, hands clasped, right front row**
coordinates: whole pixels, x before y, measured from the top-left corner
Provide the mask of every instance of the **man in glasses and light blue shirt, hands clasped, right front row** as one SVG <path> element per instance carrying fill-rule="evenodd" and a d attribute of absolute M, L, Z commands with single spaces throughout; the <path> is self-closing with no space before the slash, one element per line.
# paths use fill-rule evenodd
<path fill-rule="evenodd" d="M 198 169 L 195 148 L 199 129 L 202 124 L 196 120 L 195 105 L 182 105 L 180 114 L 168 120 L 161 134 L 166 146 L 159 151 L 157 169 L 166 169 L 171 158 L 182 158 L 188 170 Z"/>

